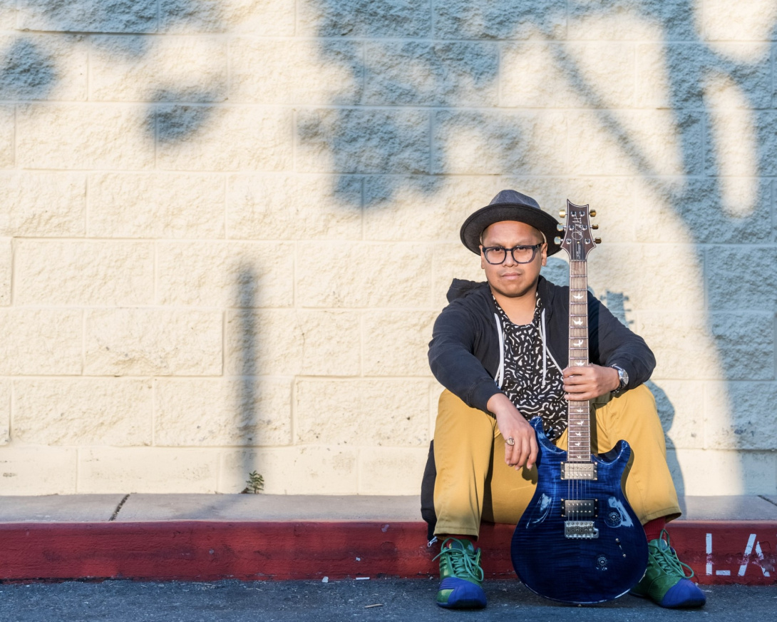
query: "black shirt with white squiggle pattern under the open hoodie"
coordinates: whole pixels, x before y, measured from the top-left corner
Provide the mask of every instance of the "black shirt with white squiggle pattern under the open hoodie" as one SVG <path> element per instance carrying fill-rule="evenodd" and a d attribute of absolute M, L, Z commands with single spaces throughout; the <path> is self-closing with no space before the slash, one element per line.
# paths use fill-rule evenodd
<path fill-rule="evenodd" d="M 561 370 L 549 353 L 543 352 L 539 296 L 530 324 L 512 323 L 497 299 L 493 302 L 504 336 L 502 391 L 527 420 L 542 417 L 545 435 L 551 440 L 557 439 L 566 429 L 568 402 L 564 399 Z"/>

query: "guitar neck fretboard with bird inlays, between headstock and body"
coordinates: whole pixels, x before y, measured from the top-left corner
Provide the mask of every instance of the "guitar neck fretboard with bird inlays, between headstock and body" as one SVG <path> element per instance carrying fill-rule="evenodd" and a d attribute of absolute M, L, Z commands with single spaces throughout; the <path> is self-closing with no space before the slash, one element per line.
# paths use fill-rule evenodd
<path fill-rule="evenodd" d="M 570 260 L 570 367 L 588 365 L 588 273 L 586 260 Z M 570 462 L 591 462 L 591 416 L 588 401 L 567 407 Z"/>

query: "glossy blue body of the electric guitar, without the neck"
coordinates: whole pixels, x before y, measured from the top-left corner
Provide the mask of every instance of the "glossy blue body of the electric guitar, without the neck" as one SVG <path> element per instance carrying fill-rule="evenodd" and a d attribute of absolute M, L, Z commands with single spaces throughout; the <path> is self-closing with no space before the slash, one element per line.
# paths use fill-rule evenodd
<path fill-rule="evenodd" d="M 628 443 L 618 441 L 612 460 L 591 456 L 595 480 L 563 480 L 567 453 L 545 436 L 540 418 L 531 425 L 539 446 L 538 484 L 513 534 L 510 556 L 518 577 L 532 592 L 563 603 L 601 603 L 622 596 L 647 566 L 645 532 L 621 486 L 631 455 Z M 576 520 L 578 528 L 586 524 L 583 535 L 566 535 L 566 522 Z"/>

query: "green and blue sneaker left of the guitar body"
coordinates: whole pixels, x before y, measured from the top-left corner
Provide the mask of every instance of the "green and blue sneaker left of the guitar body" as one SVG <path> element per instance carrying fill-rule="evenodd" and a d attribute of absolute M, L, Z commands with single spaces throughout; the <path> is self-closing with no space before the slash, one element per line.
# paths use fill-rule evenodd
<path fill-rule="evenodd" d="M 447 609 L 481 609 L 486 606 L 480 549 L 469 540 L 447 538 L 440 554 L 440 588 L 437 604 Z M 434 557 L 434 559 L 437 559 Z"/>

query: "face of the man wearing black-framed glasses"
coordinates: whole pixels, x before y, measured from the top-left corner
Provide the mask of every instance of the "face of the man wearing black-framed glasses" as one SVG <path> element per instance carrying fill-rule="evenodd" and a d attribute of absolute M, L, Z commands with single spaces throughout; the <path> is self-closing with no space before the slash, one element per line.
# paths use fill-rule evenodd
<path fill-rule="evenodd" d="M 542 243 L 542 233 L 524 222 L 505 220 L 494 222 L 483 232 L 480 245 L 480 267 L 486 271 L 486 280 L 494 292 L 507 298 L 520 298 L 531 291 L 537 283 L 540 267 L 544 266 L 548 257 L 548 245 L 542 244 L 528 264 L 517 264 L 507 253 L 503 264 L 493 265 L 486 261 L 483 246 L 531 246 Z"/>

